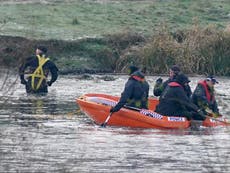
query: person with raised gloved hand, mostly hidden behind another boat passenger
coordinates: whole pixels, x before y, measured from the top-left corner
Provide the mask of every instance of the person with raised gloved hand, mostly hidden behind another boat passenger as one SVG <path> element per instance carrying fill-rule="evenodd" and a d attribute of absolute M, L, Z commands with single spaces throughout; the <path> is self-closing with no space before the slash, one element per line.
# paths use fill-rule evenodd
<path fill-rule="evenodd" d="M 162 78 L 158 78 L 156 80 L 156 84 L 154 86 L 153 89 L 153 95 L 154 96 L 160 96 L 164 89 L 167 87 L 167 85 L 170 82 L 173 82 L 176 78 L 176 76 L 180 73 L 180 68 L 177 65 L 173 65 L 170 69 L 169 69 L 169 78 L 163 82 Z M 192 90 L 191 87 L 189 86 L 189 84 L 187 84 L 186 86 L 184 86 L 185 92 L 187 94 L 187 96 L 190 98 L 192 95 Z"/>

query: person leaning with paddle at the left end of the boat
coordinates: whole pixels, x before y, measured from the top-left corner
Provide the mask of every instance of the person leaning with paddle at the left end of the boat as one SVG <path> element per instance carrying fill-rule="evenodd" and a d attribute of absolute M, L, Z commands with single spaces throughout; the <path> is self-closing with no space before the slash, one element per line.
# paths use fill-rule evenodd
<path fill-rule="evenodd" d="M 148 109 L 148 96 L 149 84 L 145 80 L 144 74 L 141 71 L 135 71 L 130 74 L 119 102 L 115 107 L 110 109 L 110 112 L 117 112 L 124 105 L 140 109 Z"/>

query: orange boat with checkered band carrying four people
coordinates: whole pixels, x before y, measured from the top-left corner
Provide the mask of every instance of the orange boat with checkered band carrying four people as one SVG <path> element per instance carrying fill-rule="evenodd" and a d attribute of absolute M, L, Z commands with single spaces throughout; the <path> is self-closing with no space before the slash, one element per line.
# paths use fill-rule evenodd
<path fill-rule="evenodd" d="M 109 110 L 115 106 L 119 97 L 106 94 L 85 94 L 77 98 L 76 102 L 81 111 L 86 113 L 96 124 L 102 124 L 109 116 Z M 154 111 L 158 100 L 149 99 L 149 109 L 123 107 L 120 111 L 112 114 L 107 125 L 126 126 L 135 128 L 160 128 L 160 129 L 185 129 L 190 127 L 191 122 L 185 117 L 163 116 Z M 229 125 L 226 119 L 206 118 L 203 122 L 206 127 Z"/>

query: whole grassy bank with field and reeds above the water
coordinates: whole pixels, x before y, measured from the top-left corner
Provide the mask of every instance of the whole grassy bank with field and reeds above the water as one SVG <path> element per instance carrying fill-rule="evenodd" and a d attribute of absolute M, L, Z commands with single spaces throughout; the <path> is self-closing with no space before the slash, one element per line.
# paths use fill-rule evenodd
<path fill-rule="evenodd" d="M 0 62 L 13 66 L 45 44 L 63 73 L 131 63 L 166 73 L 177 63 L 230 75 L 229 20 L 229 0 L 2 0 Z"/>

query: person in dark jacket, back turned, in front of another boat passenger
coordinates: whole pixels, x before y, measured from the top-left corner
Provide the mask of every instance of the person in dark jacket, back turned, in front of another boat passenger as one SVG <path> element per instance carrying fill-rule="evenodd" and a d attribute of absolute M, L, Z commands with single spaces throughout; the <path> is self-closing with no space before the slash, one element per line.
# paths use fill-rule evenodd
<path fill-rule="evenodd" d="M 156 112 L 165 116 L 186 117 L 188 120 L 203 119 L 192 109 L 195 105 L 186 94 L 186 87 L 190 80 L 182 73 L 178 74 L 174 81 L 170 82 L 160 96 Z M 192 106 L 192 108 L 190 108 Z M 195 109 L 198 108 L 195 106 Z"/>

